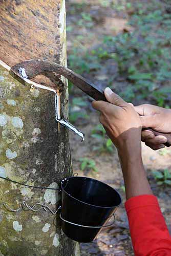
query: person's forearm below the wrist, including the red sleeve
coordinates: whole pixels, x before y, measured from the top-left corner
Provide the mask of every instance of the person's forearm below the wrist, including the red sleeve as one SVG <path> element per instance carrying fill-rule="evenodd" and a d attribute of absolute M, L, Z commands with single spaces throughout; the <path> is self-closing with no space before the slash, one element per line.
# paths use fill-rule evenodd
<path fill-rule="evenodd" d="M 141 145 L 129 141 L 118 150 L 126 189 L 125 203 L 136 256 L 170 255 L 170 236 L 157 198 L 146 178 Z"/>

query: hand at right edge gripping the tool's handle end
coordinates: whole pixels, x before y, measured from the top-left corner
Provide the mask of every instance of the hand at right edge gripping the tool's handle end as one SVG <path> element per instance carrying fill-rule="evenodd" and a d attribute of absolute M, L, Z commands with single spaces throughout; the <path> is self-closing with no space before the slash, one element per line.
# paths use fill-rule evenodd
<path fill-rule="evenodd" d="M 134 109 L 140 115 L 142 128 L 151 127 L 158 132 L 171 133 L 171 110 L 150 104 L 135 106 Z M 141 139 L 153 150 L 163 148 L 163 143 L 167 142 L 167 138 L 163 135 L 155 136 L 148 130 L 142 131 Z"/>

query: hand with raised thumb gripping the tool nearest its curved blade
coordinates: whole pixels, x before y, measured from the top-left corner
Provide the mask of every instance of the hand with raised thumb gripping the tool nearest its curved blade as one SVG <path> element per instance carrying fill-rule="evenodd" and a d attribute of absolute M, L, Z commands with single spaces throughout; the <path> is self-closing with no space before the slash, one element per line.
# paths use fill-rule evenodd
<path fill-rule="evenodd" d="M 100 111 L 100 122 L 118 150 L 136 146 L 141 150 L 141 120 L 134 106 L 125 102 L 110 88 L 104 90 L 108 102 L 93 101 L 94 109 Z M 134 147 L 135 149 L 135 147 Z"/>

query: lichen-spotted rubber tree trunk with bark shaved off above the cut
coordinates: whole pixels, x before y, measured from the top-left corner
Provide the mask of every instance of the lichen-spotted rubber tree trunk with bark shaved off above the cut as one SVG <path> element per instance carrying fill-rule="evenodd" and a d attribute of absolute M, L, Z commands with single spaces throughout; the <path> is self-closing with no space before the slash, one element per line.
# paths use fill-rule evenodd
<path fill-rule="evenodd" d="M 9 66 L 26 59 L 66 65 L 65 1 L 0 0 L 0 59 Z M 67 81 L 55 74 L 36 81 L 59 88 L 68 118 Z M 0 66 L 0 176 L 34 186 L 58 187 L 71 174 L 69 131 L 55 121 L 54 94 L 32 89 Z M 55 210 L 58 191 L 24 187 L 0 179 L 0 204 L 44 203 Z M 10 212 L 0 207 L 0 255 L 78 255 L 62 233 L 58 215 L 43 209 Z"/>

